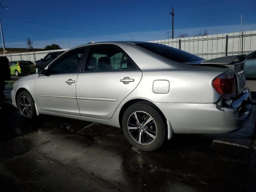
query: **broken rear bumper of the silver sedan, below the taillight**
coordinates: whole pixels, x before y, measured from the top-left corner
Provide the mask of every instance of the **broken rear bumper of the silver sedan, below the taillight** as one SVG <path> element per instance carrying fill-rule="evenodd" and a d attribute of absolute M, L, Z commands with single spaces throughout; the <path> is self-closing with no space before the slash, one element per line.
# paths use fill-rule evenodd
<path fill-rule="evenodd" d="M 156 103 L 170 122 L 174 133 L 225 134 L 234 132 L 248 120 L 252 103 L 245 88 L 235 100 L 226 103 Z"/>

